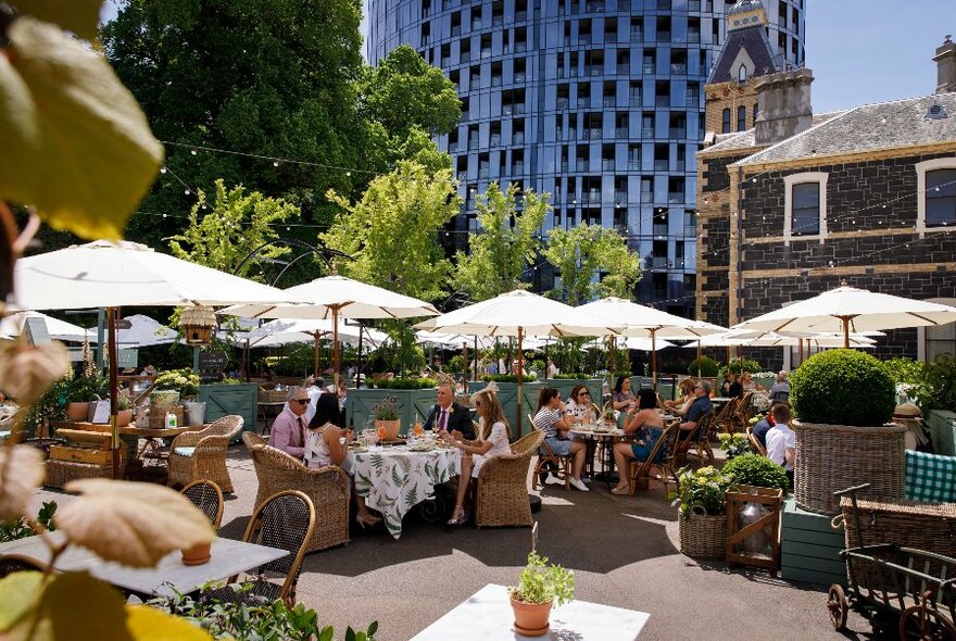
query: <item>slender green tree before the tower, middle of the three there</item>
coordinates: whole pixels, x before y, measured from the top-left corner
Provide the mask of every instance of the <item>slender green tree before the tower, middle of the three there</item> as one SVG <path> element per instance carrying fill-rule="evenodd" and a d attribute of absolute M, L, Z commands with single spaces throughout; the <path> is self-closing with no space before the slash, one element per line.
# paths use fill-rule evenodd
<path fill-rule="evenodd" d="M 477 301 L 518 287 L 525 269 L 541 251 L 537 234 L 551 211 L 548 196 L 525 191 L 519 211 L 515 206 L 517 193 L 514 184 L 506 191 L 498 183 L 489 185 L 476 205 L 481 232 L 468 237 L 468 254 L 455 254 L 456 287 Z"/>

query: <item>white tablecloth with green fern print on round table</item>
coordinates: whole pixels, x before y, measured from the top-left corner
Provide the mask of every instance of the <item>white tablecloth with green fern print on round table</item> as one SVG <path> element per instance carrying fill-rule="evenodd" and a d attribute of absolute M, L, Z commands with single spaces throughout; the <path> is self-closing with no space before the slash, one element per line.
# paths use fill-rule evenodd
<path fill-rule="evenodd" d="M 381 513 L 392 537 L 402 536 L 402 517 L 441 485 L 458 476 L 462 452 L 436 448 L 412 452 L 405 445 L 355 452 L 355 489 Z"/>

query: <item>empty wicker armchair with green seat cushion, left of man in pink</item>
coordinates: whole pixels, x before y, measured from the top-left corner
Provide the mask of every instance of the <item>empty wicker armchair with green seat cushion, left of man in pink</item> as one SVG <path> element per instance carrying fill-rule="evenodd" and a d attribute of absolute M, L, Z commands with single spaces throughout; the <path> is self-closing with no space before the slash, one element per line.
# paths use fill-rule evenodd
<path fill-rule="evenodd" d="M 183 432 L 173 439 L 169 448 L 169 487 L 211 480 L 224 492 L 231 492 L 232 479 L 226 467 L 226 449 L 241 429 L 241 416 L 224 416 L 205 429 Z"/>

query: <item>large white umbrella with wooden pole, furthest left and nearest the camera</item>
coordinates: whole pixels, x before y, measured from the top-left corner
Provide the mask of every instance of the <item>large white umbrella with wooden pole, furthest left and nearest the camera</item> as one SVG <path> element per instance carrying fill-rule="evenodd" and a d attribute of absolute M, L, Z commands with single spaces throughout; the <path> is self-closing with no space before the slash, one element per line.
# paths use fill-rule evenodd
<path fill-rule="evenodd" d="M 123 305 L 277 303 L 288 294 L 153 251 L 135 242 L 97 240 L 16 261 L 16 301 L 28 310 L 106 307 L 113 476 L 120 469 L 116 428 L 116 309 Z"/>

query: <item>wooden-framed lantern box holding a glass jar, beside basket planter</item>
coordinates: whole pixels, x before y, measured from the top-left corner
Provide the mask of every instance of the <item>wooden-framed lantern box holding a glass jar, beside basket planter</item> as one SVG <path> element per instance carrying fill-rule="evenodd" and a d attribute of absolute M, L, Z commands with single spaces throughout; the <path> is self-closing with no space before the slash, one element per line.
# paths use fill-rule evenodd
<path fill-rule="evenodd" d="M 741 511 L 749 503 L 763 505 L 767 514 L 756 521 L 744 525 Z M 780 512 L 783 508 L 783 492 L 779 489 L 738 486 L 727 492 L 727 563 L 728 565 L 752 565 L 777 569 L 780 567 Z M 767 545 L 760 550 L 749 546 L 750 537 L 766 537 Z"/>

